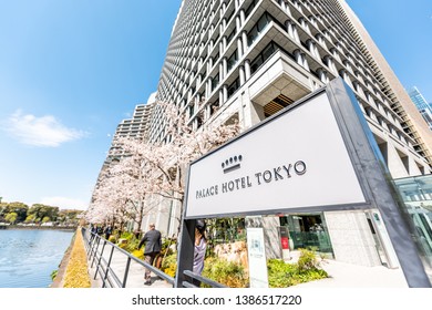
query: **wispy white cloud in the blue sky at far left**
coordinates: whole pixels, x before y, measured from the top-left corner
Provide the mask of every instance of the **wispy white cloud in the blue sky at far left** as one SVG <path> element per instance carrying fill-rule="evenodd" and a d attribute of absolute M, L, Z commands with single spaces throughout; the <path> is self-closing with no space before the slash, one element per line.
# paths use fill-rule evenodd
<path fill-rule="evenodd" d="M 6 130 L 20 143 L 32 146 L 56 147 L 85 136 L 85 132 L 68 128 L 52 115 L 23 115 L 20 110 L 9 117 Z"/>

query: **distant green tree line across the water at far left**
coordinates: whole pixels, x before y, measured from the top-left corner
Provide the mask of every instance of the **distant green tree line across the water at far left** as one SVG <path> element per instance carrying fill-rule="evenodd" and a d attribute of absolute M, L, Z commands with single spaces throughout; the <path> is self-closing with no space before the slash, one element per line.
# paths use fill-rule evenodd
<path fill-rule="evenodd" d="M 59 226 L 78 225 L 82 210 L 59 209 L 59 207 L 33 204 L 31 207 L 23 203 L 0 203 L 0 223 L 34 224 L 53 223 Z"/>

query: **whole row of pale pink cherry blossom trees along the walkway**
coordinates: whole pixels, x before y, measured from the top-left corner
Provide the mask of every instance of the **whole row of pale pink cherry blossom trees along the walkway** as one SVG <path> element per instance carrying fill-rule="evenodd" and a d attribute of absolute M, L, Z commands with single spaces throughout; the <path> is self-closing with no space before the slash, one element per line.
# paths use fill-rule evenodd
<path fill-rule="evenodd" d="M 143 217 L 157 207 L 150 203 L 154 200 L 148 199 L 152 195 L 174 199 L 183 206 L 187 165 L 240 131 L 236 123 L 209 123 L 195 130 L 174 104 L 158 103 L 158 107 L 165 116 L 164 140 L 120 137 L 113 142 L 125 156 L 100 177 L 86 214 L 89 221 L 133 220 L 140 229 Z"/>

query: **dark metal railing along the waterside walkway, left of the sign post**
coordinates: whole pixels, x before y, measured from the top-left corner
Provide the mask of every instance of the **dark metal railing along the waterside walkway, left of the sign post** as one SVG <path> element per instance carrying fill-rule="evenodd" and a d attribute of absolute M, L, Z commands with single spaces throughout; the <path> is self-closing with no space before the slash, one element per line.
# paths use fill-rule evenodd
<path fill-rule="evenodd" d="M 171 287 L 174 286 L 173 277 L 132 256 L 97 234 L 82 228 L 82 236 L 88 252 L 88 260 L 91 261 L 90 268 L 95 268 L 94 280 L 100 276 L 102 288 L 126 288 L 128 277 L 131 276 L 131 262 L 138 264 L 168 282 Z M 114 257 L 117 258 L 116 261 L 114 261 Z"/>

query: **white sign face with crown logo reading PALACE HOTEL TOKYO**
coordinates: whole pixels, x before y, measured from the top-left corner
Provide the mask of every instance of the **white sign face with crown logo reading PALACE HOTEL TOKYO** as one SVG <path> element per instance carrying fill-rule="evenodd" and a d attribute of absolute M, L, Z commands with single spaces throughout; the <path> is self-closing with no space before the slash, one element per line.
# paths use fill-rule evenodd
<path fill-rule="evenodd" d="M 191 164 L 186 218 L 364 203 L 322 92 Z"/>

